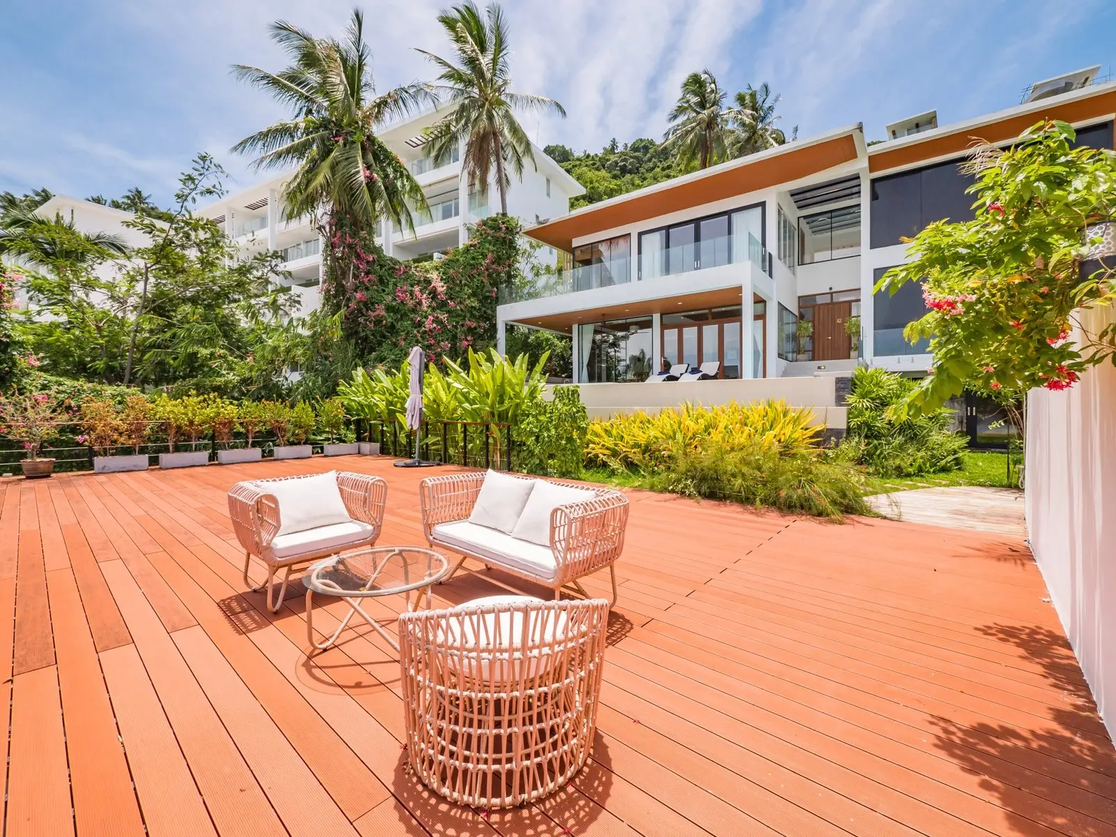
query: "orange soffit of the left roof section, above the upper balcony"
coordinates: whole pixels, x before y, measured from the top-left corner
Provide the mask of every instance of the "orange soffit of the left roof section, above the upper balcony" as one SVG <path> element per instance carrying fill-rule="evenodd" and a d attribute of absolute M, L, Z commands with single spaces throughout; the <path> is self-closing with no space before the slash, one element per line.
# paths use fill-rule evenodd
<path fill-rule="evenodd" d="M 852 133 L 797 148 L 787 145 L 778 153 L 760 156 L 752 162 L 741 161 L 735 165 L 718 166 L 705 176 L 679 177 L 677 182 L 668 181 L 631 198 L 606 202 L 599 209 L 559 218 L 528 230 L 527 234 L 545 244 L 568 251 L 573 249 L 574 239 L 583 235 L 593 235 L 779 183 L 789 183 L 856 160 L 856 142 Z"/>

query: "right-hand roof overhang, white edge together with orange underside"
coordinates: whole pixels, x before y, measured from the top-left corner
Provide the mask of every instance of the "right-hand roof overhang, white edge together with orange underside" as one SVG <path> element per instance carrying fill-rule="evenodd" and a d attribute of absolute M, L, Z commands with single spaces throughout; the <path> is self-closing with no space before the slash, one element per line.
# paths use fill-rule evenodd
<path fill-rule="evenodd" d="M 945 125 L 868 148 L 868 171 L 884 172 L 929 160 L 964 154 L 978 140 L 999 144 L 1014 140 L 1042 119 L 1083 123 L 1116 113 L 1116 83 L 1029 102 L 978 119 Z"/>

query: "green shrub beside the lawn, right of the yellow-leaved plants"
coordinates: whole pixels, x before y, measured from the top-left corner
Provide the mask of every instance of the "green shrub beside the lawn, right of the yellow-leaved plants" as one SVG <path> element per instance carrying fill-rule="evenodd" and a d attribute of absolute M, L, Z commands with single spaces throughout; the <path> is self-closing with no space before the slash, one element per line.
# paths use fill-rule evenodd
<path fill-rule="evenodd" d="M 879 477 L 920 477 L 962 465 L 965 437 L 950 431 L 947 407 L 915 415 L 893 407 L 915 383 L 884 369 L 858 368 L 848 396 L 846 455 Z"/>

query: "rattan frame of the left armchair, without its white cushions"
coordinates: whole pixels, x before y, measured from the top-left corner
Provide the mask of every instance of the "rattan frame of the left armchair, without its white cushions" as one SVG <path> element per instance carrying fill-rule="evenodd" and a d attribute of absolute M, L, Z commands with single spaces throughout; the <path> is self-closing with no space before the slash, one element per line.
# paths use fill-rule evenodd
<path fill-rule="evenodd" d="M 286 550 L 282 554 L 277 552 L 273 548 L 273 541 L 281 526 L 281 518 L 279 503 L 275 494 L 268 493 L 267 487 L 271 482 L 298 479 L 304 478 L 279 477 L 270 480 L 238 482 L 229 491 L 229 517 L 232 520 L 237 540 L 244 548 L 244 584 L 253 593 L 267 588 L 268 608 L 272 613 L 277 613 L 282 606 L 292 568 L 347 549 L 372 546 L 379 537 L 384 525 L 387 483 L 379 477 L 339 471 L 337 473 L 337 488 L 340 491 L 345 509 L 353 520 L 366 525 L 366 528 L 362 527 L 359 536 L 353 540 L 337 542 L 334 539 L 333 542 L 315 543 L 311 539 L 307 539 L 305 548 L 300 548 L 294 554 Z M 268 569 L 267 580 L 259 586 L 253 586 L 248 578 L 252 556 L 262 560 Z M 279 588 L 279 599 L 273 602 L 276 570 L 282 568 L 286 569 L 286 573 L 282 586 Z"/>

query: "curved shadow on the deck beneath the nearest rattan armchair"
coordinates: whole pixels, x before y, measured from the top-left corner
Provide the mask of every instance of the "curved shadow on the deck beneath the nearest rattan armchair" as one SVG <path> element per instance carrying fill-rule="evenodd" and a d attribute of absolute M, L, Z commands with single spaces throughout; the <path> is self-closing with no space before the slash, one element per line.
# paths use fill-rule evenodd
<path fill-rule="evenodd" d="M 549 835 L 557 830 L 554 822 L 564 834 L 587 834 L 605 810 L 612 790 L 612 771 L 602 767 L 608 763 L 608 744 L 598 733 L 591 760 L 564 788 L 533 805 L 483 811 L 432 792 L 411 768 L 406 750 L 401 749 L 392 792 L 435 837 L 490 837 L 493 828 L 517 837 Z"/>

